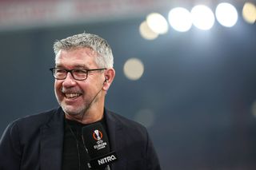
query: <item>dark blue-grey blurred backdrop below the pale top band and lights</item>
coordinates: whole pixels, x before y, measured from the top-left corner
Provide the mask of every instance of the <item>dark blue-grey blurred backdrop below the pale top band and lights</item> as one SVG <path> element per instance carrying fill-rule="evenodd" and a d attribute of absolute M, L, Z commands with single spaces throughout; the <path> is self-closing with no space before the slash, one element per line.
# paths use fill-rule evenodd
<path fill-rule="evenodd" d="M 172 29 L 143 39 L 144 18 L 0 32 L 0 135 L 18 117 L 57 107 L 52 45 L 56 39 L 99 34 L 114 53 L 116 77 L 106 107 L 134 119 L 148 109 L 148 127 L 162 169 L 256 169 L 256 29 L 239 18 L 232 28 Z M 138 81 L 123 65 L 138 57 Z"/>

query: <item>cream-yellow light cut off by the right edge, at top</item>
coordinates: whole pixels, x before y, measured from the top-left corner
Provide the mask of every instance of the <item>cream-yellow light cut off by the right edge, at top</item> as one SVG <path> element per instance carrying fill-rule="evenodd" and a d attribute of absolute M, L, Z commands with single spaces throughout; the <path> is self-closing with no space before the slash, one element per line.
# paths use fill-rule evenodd
<path fill-rule="evenodd" d="M 246 2 L 242 8 L 242 17 L 250 24 L 254 24 L 256 21 L 256 6 L 253 3 Z"/>

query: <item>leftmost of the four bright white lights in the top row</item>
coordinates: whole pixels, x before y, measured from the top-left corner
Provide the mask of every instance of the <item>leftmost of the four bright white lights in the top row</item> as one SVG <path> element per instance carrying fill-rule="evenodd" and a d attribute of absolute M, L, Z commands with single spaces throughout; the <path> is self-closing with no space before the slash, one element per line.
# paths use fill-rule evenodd
<path fill-rule="evenodd" d="M 166 18 L 161 14 L 152 13 L 146 17 L 147 25 L 157 34 L 166 34 L 168 31 L 168 23 Z"/>

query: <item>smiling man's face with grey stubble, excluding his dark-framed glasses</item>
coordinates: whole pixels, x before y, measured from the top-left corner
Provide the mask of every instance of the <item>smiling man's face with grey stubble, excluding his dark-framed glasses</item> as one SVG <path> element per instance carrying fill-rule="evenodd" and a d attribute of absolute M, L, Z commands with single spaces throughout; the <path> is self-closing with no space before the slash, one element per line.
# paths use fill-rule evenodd
<path fill-rule="evenodd" d="M 62 69 L 98 69 L 94 61 L 95 53 L 90 48 L 60 50 L 55 58 L 55 67 Z M 86 113 L 90 107 L 97 107 L 104 102 L 102 71 L 88 73 L 86 80 L 74 80 L 71 73 L 67 73 L 65 80 L 56 80 L 54 83 L 55 95 L 59 105 L 70 116 L 79 116 Z"/>

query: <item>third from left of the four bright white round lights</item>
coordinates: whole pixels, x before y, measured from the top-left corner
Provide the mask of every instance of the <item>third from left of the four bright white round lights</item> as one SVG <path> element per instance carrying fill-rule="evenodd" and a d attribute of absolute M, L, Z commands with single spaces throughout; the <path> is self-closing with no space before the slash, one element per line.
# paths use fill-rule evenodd
<path fill-rule="evenodd" d="M 194 26 L 200 30 L 210 30 L 214 26 L 214 13 L 207 6 L 194 6 L 191 15 Z"/>

